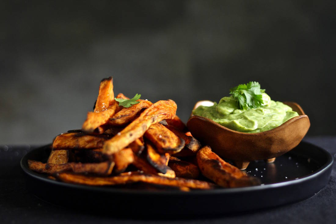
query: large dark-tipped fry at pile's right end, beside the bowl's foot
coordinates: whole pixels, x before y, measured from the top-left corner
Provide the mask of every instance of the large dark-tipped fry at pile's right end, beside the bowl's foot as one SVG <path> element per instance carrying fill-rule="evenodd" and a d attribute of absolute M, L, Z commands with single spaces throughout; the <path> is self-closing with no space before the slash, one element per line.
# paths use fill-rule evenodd
<path fill-rule="evenodd" d="M 197 152 L 197 162 L 202 174 L 222 187 L 246 187 L 259 185 L 259 179 L 233 166 L 204 146 Z"/>

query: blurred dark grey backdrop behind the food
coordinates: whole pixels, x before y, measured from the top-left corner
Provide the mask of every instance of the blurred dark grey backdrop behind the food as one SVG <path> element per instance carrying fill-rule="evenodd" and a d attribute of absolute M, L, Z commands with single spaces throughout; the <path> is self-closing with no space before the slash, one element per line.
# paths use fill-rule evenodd
<path fill-rule="evenodd" d="M 1 1 L 0 144 L 80 128 L 102 78 L 115 93 L 198 100 L 259 81 L 336 135 L 336 1 Z"/>

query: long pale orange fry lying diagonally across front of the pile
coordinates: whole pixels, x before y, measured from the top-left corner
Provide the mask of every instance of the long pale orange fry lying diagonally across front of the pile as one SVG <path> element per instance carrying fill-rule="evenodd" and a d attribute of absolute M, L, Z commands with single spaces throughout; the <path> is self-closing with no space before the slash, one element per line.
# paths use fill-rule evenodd
<path fill-rule="evenodd" d="M 127 125 L 120 134 L 106 141 L 103 152 L 113 154 L 128 146 L 131 142 L 140 138 L 152 124 L 163 119 L 170 119 L 175 116 L 176 103 L 172 100 L 160 100 L 145 109 L 138 118 Z"/>

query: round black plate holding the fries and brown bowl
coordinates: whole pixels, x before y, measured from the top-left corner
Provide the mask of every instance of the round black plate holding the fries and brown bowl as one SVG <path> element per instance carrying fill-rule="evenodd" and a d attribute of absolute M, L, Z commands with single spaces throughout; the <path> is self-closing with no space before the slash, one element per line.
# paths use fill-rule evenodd
<path fill-rule="evenodd" d="M 274 163 L 251 162 L 248 174 L 260 178 L 253 187 L 195 190 L 139 190 L 92 187 L 50 180 L 28 169 L 27 160 L 46 161 L 50 147 L 30 151 L 21 160 L 28 187 L 39 198 L 80 210 L 132 214 L 220 214 L 279 206 L 309 198 L 329 181 L 332 156 L 317 146 L 301 142 Z"/>

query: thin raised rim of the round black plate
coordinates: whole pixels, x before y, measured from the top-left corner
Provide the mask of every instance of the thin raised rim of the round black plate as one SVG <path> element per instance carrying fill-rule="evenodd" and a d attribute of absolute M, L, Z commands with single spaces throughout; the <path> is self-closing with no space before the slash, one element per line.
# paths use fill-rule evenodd
<path fill-rule="evenodd" d="M 309 142 L 301 141 L 300 144 L 307 144 L 315 147 L 316 149 L 320 150 L 322 153 L 324 153 L 327 157 L 327 161 L 325 164 L 323 164 L 321 167 L 319 167 L 316 171 L 312 172 L 311 174 L 299 177 L 298 179 L 294 180 L 288 180 L 283 181 L 279 183 L 272 183 L 272 184 L 263 184 L 258 186 L 249 186 L 249 187 L 237 187 L 237 188 L 218 188 L 218 189 L 209 189 L 209 190 L 192 190 L 192 191 L 170 191 L 170 190 L 164 190 L 164 191 L 149 191 L 146 189 L 125 189 L 125 188 L 109 188 L 109 187 L 101 187 L 101 186 L 89 186 L 89 185 L 79 185 L 79 184 L 72 184 L 72 183 L 65 183 L 60 181 L 55 181 L 48 179 L 46 177 L 43 177 L 42 174 L 36 173 L 28 168 L 27 160 L 30 154 L 32 154 L 36 150 L 41 150 L 42 148 L 46 148 L 50 146 L 51 144 L 42 145 L 40 147 L 37 147 L 36 149 L 33 149 L 29 151 L 26 155 L 22 157 L 20 160 L 20 166 L 22 170 L 29 175 L 30 177 L 37 179 L 42 182 L 46 182 L 49 184 L 55 184 L 57 186 L 61 187 L 69 187 L 73 189 L 81 189 L 81 190 L 88 190 L 88 191 L 98 191 L 103 193 L 126 193 L 126 194 L 133 194 L 133 195 L 181 195 L 181 196 L 191 196 L 191 195 L 216 195 L 216 194 L 232 194 L 232 193 L 242 193 L 242 192 L 254 192 L 254 191 L 262 191 L 266 189 L 272 189 L 272 188 L 281 188 L 288 185 L 296 185 L 300 184 L 302 182 L 309 181 L 311 179 L 314 179 L 315 177 L 319 176 L 320 174 L 324 173 L 330 167 L 333 165 L 334 158 L 332 155 L 325 149 L 316 146 L 314 144 L 311 144 Z M 330 175 L 329 175 L 330 178 Z"/>

